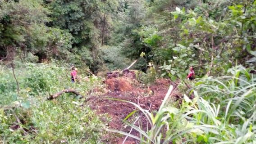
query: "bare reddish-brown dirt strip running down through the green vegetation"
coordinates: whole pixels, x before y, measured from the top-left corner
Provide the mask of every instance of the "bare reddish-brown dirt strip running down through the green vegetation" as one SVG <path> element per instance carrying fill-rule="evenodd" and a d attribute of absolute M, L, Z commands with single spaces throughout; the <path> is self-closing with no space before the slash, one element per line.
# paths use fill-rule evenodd
<path fill-rule="evenodd" d="M 123 123 L 123 119 L 137 108 L 130 103 L 108 98 L 130 101 L 152 112 L 159 109 L 169 85 L 174 85 L 174 87 L 177 85 L 168 79 L 157 79 L 152 85 L 145 86 L 136 81 L 134 73 L 130 72 L 123 74 L 122 77 L 108 76 L 105 84 L 109 92 L 101 96 L 91 96 L 87 99 L 87 103 L 91 109 L 96 110 L 97 114 L 107 113 L 111 117 L 111 121 L 108 121 L 105 117 L 101 118 L 103 122 L 107 123 L 109 129 L 124 132 L 129 132 L 131 128 Z M 179 97 L 176 94 L 172 94 L 172 96 Z M 146 118 L 143 118 L 142 113 L 138 113 L 141 116 L 142 127 L 150 128 Z M 139 135 L 135 130 L 131 134 Z M 123 138 L 108 135 L 105 140 L 108 144 L 122 144 Z M 135 144 L 135 140 L 129 138 L 125 144 Z"/>

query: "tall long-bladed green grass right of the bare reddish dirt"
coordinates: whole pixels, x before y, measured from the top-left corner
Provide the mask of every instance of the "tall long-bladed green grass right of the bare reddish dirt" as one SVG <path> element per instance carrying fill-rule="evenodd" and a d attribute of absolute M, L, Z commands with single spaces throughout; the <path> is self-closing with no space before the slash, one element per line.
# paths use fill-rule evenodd
<path fill-rule="evenodd" d="M 256 144 L 256 79 L 243 69 L 234 76 L 209 77 L 196 83 L 194 99 L 184 94 L 180 108 L 166 105 L 172 86 L 156 113 L 136 106 L 150 129 L 128 124 L 140 136 L 109 130 L 142 144 Z"/>

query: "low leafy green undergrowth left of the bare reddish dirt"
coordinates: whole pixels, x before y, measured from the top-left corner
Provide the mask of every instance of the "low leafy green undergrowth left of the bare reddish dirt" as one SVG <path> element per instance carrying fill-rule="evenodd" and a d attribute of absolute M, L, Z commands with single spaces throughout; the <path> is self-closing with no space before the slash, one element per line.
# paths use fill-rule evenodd
<path fill-rule="evenodd" d="M 0 143 L 3 144 L 100 144 L 104 125 L 87 105 L 87 92 L 101 86 L 101 79 L 79 73 L 80 83 L 71 83 L 68 66 L 27 63 L 12 70 L 0 69 Z M 47 101 L 50 94 L 72 88 L 85 96 L 62 94 Z M 20 121 L 20 122 L 19 122 Z"/>

